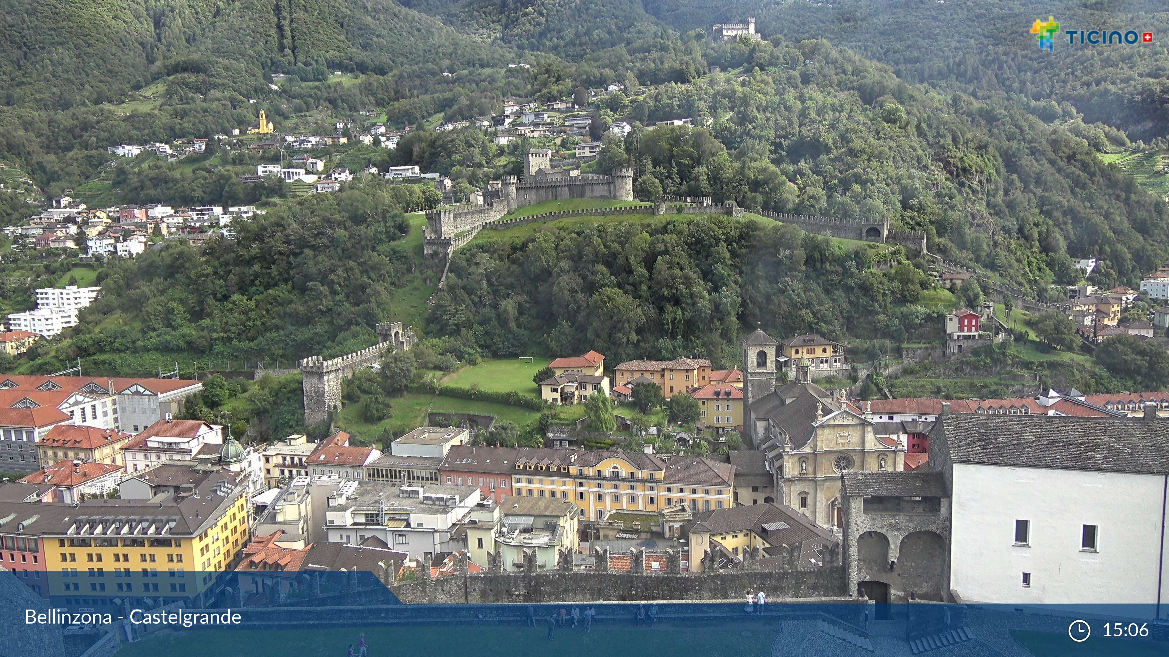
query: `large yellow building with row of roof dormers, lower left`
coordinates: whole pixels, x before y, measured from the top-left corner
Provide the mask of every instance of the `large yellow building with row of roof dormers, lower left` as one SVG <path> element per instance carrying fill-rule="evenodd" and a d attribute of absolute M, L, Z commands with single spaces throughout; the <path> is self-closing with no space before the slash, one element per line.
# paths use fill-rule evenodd
<path fill-rule="evenodd" d="M 41 532 L 56 596 L 193 599 L 234 569 L 250 538 L 244 483 L 212 472 L 189 491 L 153 499 L 42 504 L 61 516 Z M 0 506 L 11 506 L 4 504 Z M 2 511 L 2 509 L 0 509 Z"/>

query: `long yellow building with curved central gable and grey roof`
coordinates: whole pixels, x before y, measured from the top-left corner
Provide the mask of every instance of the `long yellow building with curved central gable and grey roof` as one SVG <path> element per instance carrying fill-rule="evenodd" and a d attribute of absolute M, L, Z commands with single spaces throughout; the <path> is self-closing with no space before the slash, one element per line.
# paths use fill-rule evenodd
<path fill-rule="evenodd" d="M 588 520 L 617 509 L 685 504 L 699 512 L 734 503 L 734 465 L 697 456 L 524 448 L 513 463 L 514 496 L 572 500 Z"/>

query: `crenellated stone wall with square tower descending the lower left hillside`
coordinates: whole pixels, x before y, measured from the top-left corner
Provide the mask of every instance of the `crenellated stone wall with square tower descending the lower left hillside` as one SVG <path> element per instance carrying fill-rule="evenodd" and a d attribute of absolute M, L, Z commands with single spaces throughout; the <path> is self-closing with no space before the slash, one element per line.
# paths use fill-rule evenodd
<path fill-rule="evenodd" d="M 381 360 L 387 351 L 406 351 L 414 345 L 415 336 L 401 321 L 378 325 L 378 344 L 331 360 L 310 355 L 297 365 L 304 390 L 304 424 L 311 427 L 328 419 L 331 410 L 341 408 L 341 382 L 355 372 Z"/>

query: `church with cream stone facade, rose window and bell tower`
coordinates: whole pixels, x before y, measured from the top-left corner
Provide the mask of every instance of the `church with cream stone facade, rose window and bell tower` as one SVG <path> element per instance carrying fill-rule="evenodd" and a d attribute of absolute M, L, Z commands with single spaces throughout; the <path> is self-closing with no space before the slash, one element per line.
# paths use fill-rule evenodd
<path fill-rule="evenodd" d="M 743 338 L 743 426 L 763 452 L 780 502 L 823 526 L 843 524 L 841 475 L 900 471 L 905 445 L 878 436 L 874 424 L 843 395 L 807 378 L 775 385 L 779 343 L 762 330 Z"/>

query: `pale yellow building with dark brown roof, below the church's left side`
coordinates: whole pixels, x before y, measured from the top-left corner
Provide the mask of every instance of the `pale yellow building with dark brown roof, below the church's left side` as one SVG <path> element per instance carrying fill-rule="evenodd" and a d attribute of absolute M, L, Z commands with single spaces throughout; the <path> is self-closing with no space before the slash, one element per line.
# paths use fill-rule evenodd
<path fill-rule="evenodd" d="M 766 559 L 795 549 L 801 569 L 824 562 L 829 548 L 838 549 L 832 532 L 809 520 L 790 506 L 777 503 L 732 506 L 706 511 L 686 525 L 686 561 L 691 573 L 706 569 L 710 552 L 724 568 L 741 567 L 747 559 Z"/>

